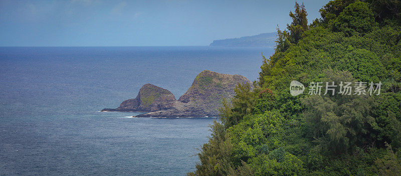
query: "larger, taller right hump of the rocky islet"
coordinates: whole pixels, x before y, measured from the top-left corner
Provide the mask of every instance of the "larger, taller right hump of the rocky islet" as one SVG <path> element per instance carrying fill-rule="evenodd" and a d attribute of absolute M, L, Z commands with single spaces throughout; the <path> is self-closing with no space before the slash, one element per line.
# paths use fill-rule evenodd
<path fill-rule="evenodd" d="M 250 81 L 238 74 L 222 74 L 210 70 L 200 72 L 192 82 L 192 85 L 177 101 L 172 108 L 139 114 L 137 116 L 158 117 L 203 117 L 217 116 L 222 99 L 231 99 L 235 95 L 234 88 L 238 83 L 250 83 Z"/>

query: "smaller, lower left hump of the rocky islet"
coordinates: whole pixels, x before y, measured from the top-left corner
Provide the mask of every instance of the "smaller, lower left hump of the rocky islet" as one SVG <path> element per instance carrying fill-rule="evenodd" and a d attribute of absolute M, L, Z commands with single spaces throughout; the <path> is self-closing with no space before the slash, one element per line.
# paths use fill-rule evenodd
<path fill-rule="evenodd" d="M 166 110 L 173 107 L 174 95 L 167 89 L 147 83 L 143 85 L 134 99 L 123 101 L 119 107 L 105 108 L 102 111 L 149 112 Z"/>

